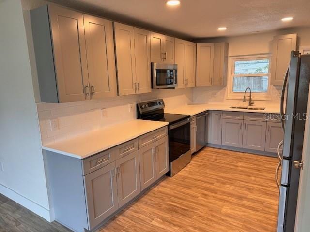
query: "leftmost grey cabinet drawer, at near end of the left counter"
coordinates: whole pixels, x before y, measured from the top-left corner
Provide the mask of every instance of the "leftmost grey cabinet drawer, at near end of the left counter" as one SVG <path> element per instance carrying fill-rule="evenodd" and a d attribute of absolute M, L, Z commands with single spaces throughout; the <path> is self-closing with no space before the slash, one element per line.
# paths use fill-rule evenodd
<path fill-rule="evenodd" d="M 115 160 L 115 149 L 100 152 L 92 157 L 83 160 L 83 173 L 84 175 L 92 173 L 103 166 Z"/>

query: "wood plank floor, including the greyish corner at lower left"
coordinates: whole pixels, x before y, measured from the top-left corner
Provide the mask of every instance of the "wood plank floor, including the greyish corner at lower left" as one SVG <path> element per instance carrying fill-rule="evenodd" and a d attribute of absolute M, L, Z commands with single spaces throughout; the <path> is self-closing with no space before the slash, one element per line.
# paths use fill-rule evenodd
<path fill-rule="evenodd" d="M 275 232 L 276 158 L 204 148 L 97 232 Z M 68 232 L 0 195 L 0 231 Z"/>

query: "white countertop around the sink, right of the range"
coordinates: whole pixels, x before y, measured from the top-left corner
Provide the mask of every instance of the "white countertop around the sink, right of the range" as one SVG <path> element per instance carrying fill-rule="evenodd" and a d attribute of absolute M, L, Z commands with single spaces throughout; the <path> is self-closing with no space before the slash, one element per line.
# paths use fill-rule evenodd
<path fill-rule="evenodd" d="M 266 107 L 264 110 L 232 109 L 232 108 L 229 108 L 230 106 L 231 105 L 221 105 L 221 104 L 193 104 L 193 105 L 184 105 L 176 109 L 165 110 L 165 113 L 182 114 L 182 115 L 190 115 L 190 116 L 197 115 L 206 110 L 255 112 L 255 113 L 271 113 L 271 114 L 280 113 L 280 107 L 276 107 L 276 106 L 269 106 L 269 107 Z"/>

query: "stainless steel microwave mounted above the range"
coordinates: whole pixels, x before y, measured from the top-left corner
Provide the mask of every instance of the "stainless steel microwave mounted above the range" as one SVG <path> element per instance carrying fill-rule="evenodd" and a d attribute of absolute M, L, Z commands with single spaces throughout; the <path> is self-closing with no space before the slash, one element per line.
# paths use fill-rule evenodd
<path fill-rule="evenodd" d="M 152 88 L 177 87 L 177 64 L 152 63 Z"/>

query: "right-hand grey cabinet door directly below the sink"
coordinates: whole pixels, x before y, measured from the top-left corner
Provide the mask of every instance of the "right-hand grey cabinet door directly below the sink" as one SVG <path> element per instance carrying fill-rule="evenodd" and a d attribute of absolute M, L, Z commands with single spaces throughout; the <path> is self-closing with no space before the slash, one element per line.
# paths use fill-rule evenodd
<path fill-rule="evenodd" d="M 252 150 L 265 150 L 266 122 L 243 121 L 242 147 Z"/>

